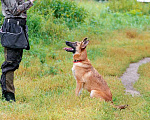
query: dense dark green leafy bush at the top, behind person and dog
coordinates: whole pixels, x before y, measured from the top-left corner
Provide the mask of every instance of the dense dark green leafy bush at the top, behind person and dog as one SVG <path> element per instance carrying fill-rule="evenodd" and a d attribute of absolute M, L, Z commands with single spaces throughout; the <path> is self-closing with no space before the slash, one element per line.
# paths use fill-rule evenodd
<path fill-rule="evenodd" d="M 56 19 L 63 18 L 69 28 L 84 22 L 87 17 L 87 12 L 84 8 L 69 0 L 40 0 L 33 10 L 45 18 L 49 18 L 51 14 Z"/>

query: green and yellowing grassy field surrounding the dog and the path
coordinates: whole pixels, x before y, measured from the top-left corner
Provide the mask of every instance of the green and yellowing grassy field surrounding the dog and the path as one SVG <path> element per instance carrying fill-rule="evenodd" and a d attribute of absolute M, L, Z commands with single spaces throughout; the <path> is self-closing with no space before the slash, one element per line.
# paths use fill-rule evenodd
<path fill-rule="evenodd" d="M 37 0 L 43 5 L 44 0 Z M 134 87 L 141 96 L 125 95 L 119 77 L 132 62 L 150 57 L 150 17 L 138 12 L 110 12 L 109 3 L 76 1 L 88 16 L 85 22 L 69 28 L 59 19 L 54 24 L 51 13 L 46 17 L 33 7 L 28 25 L 31 50 L 24 51 L 20 68 L 15 72 L 16 102 L 0 100 L 2 120 L 149 120 L 150 64 L 140 66 L 140 79 Z M 138 11 L 138 10 L 137 10 Z M 33 29 L 34 28 L 34 29 Z M 40 29 L 40 30 L 39 30 Z M 65 41 L 88 37 L 88 58 L 107 81 L 116 105 L 91 99 L 87 91 L 75 96 L 72 54 L 63 50 Z M 3 48 L 0 47 L 0 64 Z M 1 94 L 0 94 L 1 99 Z"/>

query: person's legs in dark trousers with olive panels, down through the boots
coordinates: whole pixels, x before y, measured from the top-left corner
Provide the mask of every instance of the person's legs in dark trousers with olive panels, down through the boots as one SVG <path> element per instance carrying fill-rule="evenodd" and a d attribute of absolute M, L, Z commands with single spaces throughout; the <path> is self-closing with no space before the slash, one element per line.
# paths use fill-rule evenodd
<path fill-rule="evenodd" d="M 14 71 L 18 69 L 22 59 L 22 49 L 5 48 L 5 62 L 2 65 L 2 93 L 7 101 L 15 101 Z"/>

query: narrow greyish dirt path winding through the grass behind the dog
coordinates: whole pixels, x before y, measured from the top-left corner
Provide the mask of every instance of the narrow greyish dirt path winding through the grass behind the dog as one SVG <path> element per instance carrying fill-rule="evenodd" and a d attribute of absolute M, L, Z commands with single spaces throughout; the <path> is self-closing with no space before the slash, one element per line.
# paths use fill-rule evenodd
<path fill-rule="evenodd" d="M 137 63 L 131 63 L 126 72 L 120 77 L 121 81 L 126 88 L 126 93 L 132 96 L 140 95 L 140 92 L 133 88 L 133 84 L 139 79 L 138 68 L 140 65 L 150 62 L 150 58 L 144 58 Z"/>

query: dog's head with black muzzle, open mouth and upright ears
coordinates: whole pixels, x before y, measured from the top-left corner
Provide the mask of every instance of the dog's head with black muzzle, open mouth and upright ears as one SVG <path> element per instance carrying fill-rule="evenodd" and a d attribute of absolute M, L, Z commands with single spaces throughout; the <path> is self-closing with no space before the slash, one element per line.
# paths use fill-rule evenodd
<path fill-rule="evenodd" d="M 67 52 L 72 52 L 73 54 L 81 53 L 86 48 L 88 43 L 89 40 L 87 40 L 87 38 L 84 38 L 83 41 L 81 42 L 66 41 L 66 45 L 69 46 L 70 48 L 64 48 L 64 50 L 66 50 Z"/>

